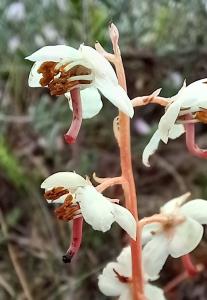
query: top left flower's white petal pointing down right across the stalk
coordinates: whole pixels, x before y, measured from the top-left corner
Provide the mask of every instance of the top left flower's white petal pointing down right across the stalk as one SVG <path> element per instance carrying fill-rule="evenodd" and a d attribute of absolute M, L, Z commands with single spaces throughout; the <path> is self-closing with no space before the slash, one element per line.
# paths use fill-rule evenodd
<path fill-rule="evenodd" d="M 118 84 L 113 84 L 107 77 L 95 78 L 95 86 L 113 105 L 130 118 L 134 115 L 131 100 L 125 90 Z"/>

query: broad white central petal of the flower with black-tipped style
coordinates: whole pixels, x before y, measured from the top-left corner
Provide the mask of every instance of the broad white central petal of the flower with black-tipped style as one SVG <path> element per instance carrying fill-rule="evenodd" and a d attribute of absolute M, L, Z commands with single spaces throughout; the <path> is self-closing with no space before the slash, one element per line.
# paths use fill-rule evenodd
<path fill-rule="evenodd" d="M 76 200 L 80 204 L 84 220 L 93 229 L 105 232 L 111 228 L 111 224 L 115 221 L 112 213 L 113 204 L 93 186 L 79 188 Z"/>

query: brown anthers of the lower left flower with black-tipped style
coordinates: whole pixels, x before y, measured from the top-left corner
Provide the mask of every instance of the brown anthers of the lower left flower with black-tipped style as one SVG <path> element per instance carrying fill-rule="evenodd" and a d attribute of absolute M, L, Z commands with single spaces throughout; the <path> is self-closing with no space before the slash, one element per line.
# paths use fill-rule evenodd
<path fill-rule="evenodd" d="M 68 189 L 56 187 L 44 193 L 45 199 L 52 202 L 64 195 L 66 195 L 66 198 L 63 204 L 54 210 L 56 217 L 65 222 L 81 217 L 80 205 L 76 202 L 75 197 L 69 193 Z"/>

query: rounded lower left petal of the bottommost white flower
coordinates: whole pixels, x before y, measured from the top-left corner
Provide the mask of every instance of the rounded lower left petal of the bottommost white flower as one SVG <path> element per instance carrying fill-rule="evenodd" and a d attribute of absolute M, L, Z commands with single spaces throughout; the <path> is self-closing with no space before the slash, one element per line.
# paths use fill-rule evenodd
<path fill-rule="evenodd" d="M 98 277 L 98 287 L 106 296 L 119 296 L 124 289 L 124 284 L 121 283 L 114 270 L 117 271 L 117 263 L 109 263 L 103 269 L 103 273 Z"/>

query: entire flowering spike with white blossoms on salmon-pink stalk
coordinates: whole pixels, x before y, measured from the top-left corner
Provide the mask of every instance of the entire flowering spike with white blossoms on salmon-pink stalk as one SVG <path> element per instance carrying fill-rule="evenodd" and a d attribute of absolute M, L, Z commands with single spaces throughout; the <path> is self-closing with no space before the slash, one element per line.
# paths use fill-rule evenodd
<path fill-rule="evenodd" d="M 185 203 L 189 197 L 186 193 L 164 204 L 159 214 L 138 221 L 128 126 L 128 117 L 133 117 L 133 106 L 137 102 L 131 101 L 126 93 L 119 33 L 113 24 L 110 37 L 114 54 L 106 52 L 100 44 L 96 45 L 97 50 L 85 45 L 80 45 L 78 50 L 56 45 L 34 52 L 27 57 L 34 62 L 29 85 L 48 88 L 51 95 L 65 95 L 68 99 L 73 118 L 65 134 L 67 143 L 76 141 L 82 119 L 99 113 L 103 105 L 101 95 L 115 105 L 119 117 L 115 118 L 114 133 L 120 148 L 122 174 L 102 179 L 99 186 L 93 186 L 88 178 L 75 172 L 58 172 L 44 180 L 41 188 L 47 202 L 57 205 L 56 217 L 72 222 L 71 243 L 63 256 L 65 263 L 71 262 L 79 250 L 83 221 L 102 232 L 108 231 L 116 222 L 129 235 L 131 247 L 124 248 L 117 260 L 107 264 L 99 275 L 101 292 L 120 300 L 164 300 L 163 291 L 149 281 L 159 277 L 169 255 L 182 257 L 198 246 L 203 236 L 202 225 L 207 224 L 207 201 L 195 199 Z M 109 61 L 114 63 L 116 73 Z M 183 133 L 186 133 L 188 149 L 199 157 L 207 157 L 207 151 L 199 149 L 194 141 L 194 124 L 207 123 L 207 79 L 188 86 L 184 83 L 169 99 L 159 98 L 158 92 L 160 90 L 141 97 L 141 103 L 155 101 L 165 106 L 158 129 L 144 149 L 143 163 L 149 166 L 149 157 L 160 141 L 167 143 Z M 117 182 L 123 187 L 127 208 L 120 205 L 119 200 L 102 194 L 105 188 Z"/>

